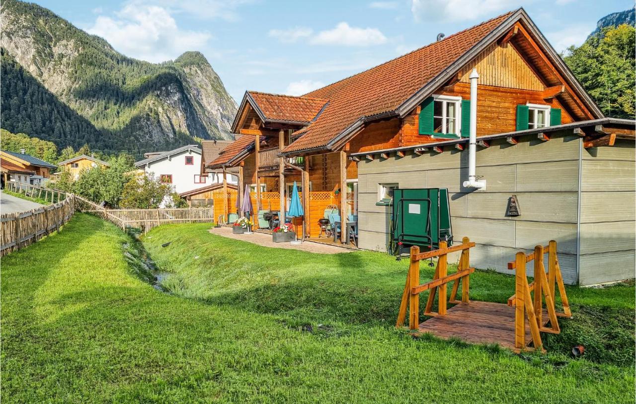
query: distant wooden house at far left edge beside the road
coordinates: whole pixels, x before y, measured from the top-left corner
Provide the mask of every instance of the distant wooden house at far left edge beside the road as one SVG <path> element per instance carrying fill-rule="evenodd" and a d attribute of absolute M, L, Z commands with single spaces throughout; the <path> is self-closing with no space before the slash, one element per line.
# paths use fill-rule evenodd
<path fill-rule="evenodd" d="M 24 149 L 18 152 L 0 151 L 2 182 L 22 182 L 31 185 L 43 185 L 51 177 L 55 165 L 26 154 Z"/>

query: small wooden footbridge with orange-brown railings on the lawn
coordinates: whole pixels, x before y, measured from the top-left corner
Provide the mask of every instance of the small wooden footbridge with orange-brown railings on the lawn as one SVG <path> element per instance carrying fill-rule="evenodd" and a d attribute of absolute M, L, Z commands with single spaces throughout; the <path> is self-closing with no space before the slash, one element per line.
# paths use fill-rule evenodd
<path fill-rule="evenodd" d="M 471 302 L 469 300 L 470 248 L 474 247 L 468 238 L 462 244 L 447 247 L 444 241 L 439 250 L 420 253 L 417 246 L 411 247 L 411 262 L 406 276 L 406 285 L 397 316 L 396 327 L 403 327 L 406 311 L 409 311 L 409 328 L 415 333 L 432 333 L 444 339 L 456 337 L 474 344 L 499 344 L 502 347 L 523 351 L 541 349 L 541 332 L 559 333 L 558 317 L 571 318 L 570 307 L 563 286 L 563 278 L 556 257 L 556 241 L 547 246 L 537 245 L 532 253 L 516 253 L 508 269 L 515 269 L 515 295 L 508 304 L 492 302 Z M 448 253 L 461 252 L 457 272 L 448 274 Z M 544 255 L 548 255 L 548 271 L 544 267 Z M 432 281 L 420 284 L 420 261 L 438 257 Z M 534 264 L 534 281 L 528 283 L 526 264 Z M 450 299 L 447 300 L 447 284 L 453 282 Z M 457 294 L 461 284 L 461 299 Z M 558 289 L 563 312 L 555 307 L 555 293 Z M 427 321 L 419 322 L 419 295 L 430 290 L 424 309 Z M 437 295 L 437 299 L 436 299 Z M 438 309 L 432 311 L 435 300 Z M 447 304 L 453 307 L 447 309 Z M 529 327 L 526 327 L 528 325 Z"/>

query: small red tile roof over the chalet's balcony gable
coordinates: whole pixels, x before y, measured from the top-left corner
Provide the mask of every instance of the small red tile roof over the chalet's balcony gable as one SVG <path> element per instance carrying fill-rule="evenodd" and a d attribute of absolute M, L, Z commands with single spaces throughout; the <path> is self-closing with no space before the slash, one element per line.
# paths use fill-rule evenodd
<path fill-rule="evenodd" d="M 327 100 L 313 97 L 293 97 L 247 91 L 263 112 L 265 119 L 310 123 L 322 110 Z"/>

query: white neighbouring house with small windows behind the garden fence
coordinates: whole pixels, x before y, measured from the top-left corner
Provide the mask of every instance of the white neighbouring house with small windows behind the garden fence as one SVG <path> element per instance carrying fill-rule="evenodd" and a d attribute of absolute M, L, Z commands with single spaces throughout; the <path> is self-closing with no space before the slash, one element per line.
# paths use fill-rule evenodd
<path fill-rule="evenodd" d="M 186 145 L 167 152 L 148 153 L 148 158 L 137 161 L 135 166 L 153 175 L 165 184 L 172 184 L 174 191 L 181 194 L 193 189 L 223 182 L 222 175 L 202 174 L 202 151 L 197 145 Z M 228 175 L 228 182 L 237 183 L 234 176 Z"/>

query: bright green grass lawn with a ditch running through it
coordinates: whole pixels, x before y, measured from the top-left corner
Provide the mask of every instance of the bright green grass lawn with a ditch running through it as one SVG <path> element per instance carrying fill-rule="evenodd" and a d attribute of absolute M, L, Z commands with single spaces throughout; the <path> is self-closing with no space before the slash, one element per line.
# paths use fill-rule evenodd
<path fill-rule="evenodd" d="M 208 226 L 144 238 L 176 273 L 174 294 L 142 281 L 134 242 L 90 215 L 3 257 L 3 401 L 633 402 L 632 365 L 395 330 L 406 262 L 259 248 Z M 512 287 L 499 274 L 473 279 L 474 299 Z M 584 307 L 633 310 L 633 287 L 570 291 Z"/>

